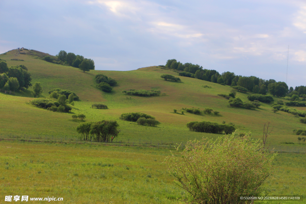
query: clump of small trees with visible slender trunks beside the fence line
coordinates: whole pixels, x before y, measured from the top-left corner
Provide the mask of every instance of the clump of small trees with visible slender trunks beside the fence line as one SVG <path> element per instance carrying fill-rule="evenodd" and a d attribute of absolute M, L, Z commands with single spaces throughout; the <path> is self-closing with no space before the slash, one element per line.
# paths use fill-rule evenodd
<path fill-rule="evenodd" d="M 84 136 L 84 140 L 95 142 L 112 142 L 120 132 L 117 121 L 85 122 L 77 126 L 76 131 Z"/>

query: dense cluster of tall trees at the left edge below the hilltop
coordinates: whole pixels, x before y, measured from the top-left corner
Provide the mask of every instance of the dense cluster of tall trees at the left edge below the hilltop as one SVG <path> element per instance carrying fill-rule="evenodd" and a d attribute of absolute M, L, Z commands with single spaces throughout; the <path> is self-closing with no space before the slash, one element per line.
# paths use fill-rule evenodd
<path fill-rule="evenodd" d="M 6 61 L 0 59 L 0 91 L 18 91 L 32 86 L 31 74 L 24 65 L 8 68 Z"/>

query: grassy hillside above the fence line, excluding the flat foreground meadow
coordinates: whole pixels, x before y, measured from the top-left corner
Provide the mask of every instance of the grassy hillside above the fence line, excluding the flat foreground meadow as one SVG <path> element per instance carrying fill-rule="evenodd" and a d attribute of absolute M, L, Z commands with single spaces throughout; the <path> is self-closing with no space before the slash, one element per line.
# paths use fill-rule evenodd
<path fill-rule="evenodd" d="M 261 103 L 259 109 L 241 109 L 229 107 L 228 100 L 218 94 L 229 94 L 230 86 L 211 83 L 204 80 L 179 76 L 181 83 L 163 80 L 162 74 L 178 76 L 177 71 L 160 66 L 144 67 L 132 71 L 99 71 L 82 72 L 71 66 L 50 63 L 41 59 L 49 54 L 35 51 L 11 50 L 1 54 L 7 65 L 25 65 L 32 75 L 32 84 L 40 82 L 43 86 L 41 97 L 48 97 L 48 91 L 61 88 L 73 91 L 80 98 L 75 102 L 72 112 L 83 113 L 86 121 L 117 120 L 123 142 L 180 143 L 190 139 L 217 137 L 217 134 L 190 132 L 186 124 L 191 121 L 211 121 L 221 124 L 223 121 L 235 124 L 238 132 L 251 131 L 254 138 L 259 138 L 263 125 L 268 121 L 274 127 L 271 140 L 274 147 L 282 147 L 283 142 L 297 142 L 293 129 L 304 129 L 305 125 L 290 113 L 272 112 L 269 104 Z M 12 60 L 14 59 L 14 60 Z M 118 85 L 111 93 L 105 93 L 96 87 L 95 75 L 103 73 L 115 79 Z M 15 95 L 0 93 L 3 135 L 53 135 L 54 137 L 78 137 L 76 126 L 79 124 L 71 119 L 72 113 L 56 113 L 39 109 L 28 104 L 33 100 L 29 90 L 16 92 Z M 128 96 L 122 93 L 128 89 L 160 90 L 159 97 Z M 236 97 L 247 102 L 251 92 L 237 92 Z M 277 101 L 280 98 L 274 97 Z M 286 101 L 284 98 L 282 100 Z M 93 103 L 100 102 L 109 109 L 92 109 Z M 181 108 L 211 108 L 220 112 L 220 116 L 195 115 L 191 113 L 174 114 L 173 109 L 180 113 Z M 304 108 L 298 108 L 304 109 Z M 139 126 L 119 119 L 121 113 L 142 112 L 152 115 L 161 122 L 158 127 Z M 19 128 L 16 128 L 18 124 Z"/>

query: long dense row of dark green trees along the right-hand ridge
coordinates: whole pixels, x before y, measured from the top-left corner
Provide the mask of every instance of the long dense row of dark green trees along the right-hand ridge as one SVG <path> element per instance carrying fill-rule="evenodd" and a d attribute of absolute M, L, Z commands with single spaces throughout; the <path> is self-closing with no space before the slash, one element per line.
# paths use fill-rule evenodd
<path fill-rule="evenodd" d="M 220 74 L 216 70 L 203 69 L 200 65 L 193 65 L 191 63 L 185 63 L 183 65 L 177 62 L 176 59 L 168 60 L 166 67 L 183 71 L 179 73 L 180 76 L 226 84 L 233 87 L 240 86 L 256 94 L 265 95 L 269 91 L 274 96 L 284 97 L 288 93 L 288 86 L 285 82 L 276 82 L 273 79 L 263 80 L 256 76 L 237 76 L 233 72 L 223 72 Z M 298 93 L 306 94 L 306 88 L 304 89 L 304 87 L 296 87 L 296 90 L 299 91 Z"/>

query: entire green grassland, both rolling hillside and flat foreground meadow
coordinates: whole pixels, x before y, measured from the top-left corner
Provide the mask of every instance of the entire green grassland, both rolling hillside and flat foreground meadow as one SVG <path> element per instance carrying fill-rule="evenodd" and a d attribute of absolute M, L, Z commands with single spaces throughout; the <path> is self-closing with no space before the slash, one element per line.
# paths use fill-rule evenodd
<path fill-rule="evenodd" d="M 169 149 L 173 144 L 184 144 L 191 139 L 222 136 L 190 132 L 186 127 L 190 121 L 232 122 L 239 129 L 238 133 L 251 131 L 254 139 L 262 136 L 263 124 L 270 121 L 270 128 L 273 127 L 270 147 L 289 153 L 278 155 L 274 174 L 265 185 L 270 195 L 305 195 L 305 154 L 302 152 L 306 152 L 306 145 L 299 144 L 297 135 L 293 135 L 293 129 L 305 129 L 305 124 L 289 113 L 273 113 L 269 104 L 262 103 L 256 110 L 230 108 L 227 99 L 217 96 L 228 94 L 229 86 L 182 76 L 182 83 L 165 81 L 160 78 L 162 74 L 178 74 L 158 66 L 125 72 L 91 70 L 84 73 L 37 56 L 18 54 L 17 50 L 2 54 L 0 58 L 5 59 L 8 66 L 27 66 L 32 83 L 39 81 L 43 86 L 40 97 L 48 97 L 52 88 L 68 89 L 80 97 L 72 113 L 55 113 L 28 103 L 33 100 L 31 88 L 15 95 L 0 92 L 0 138 L 5 139 L 0 142 L 2 197 L 26 192 L 33 197 L 66 196 L 65 203 L 179 203 L 176 198 L 180 198 L 183 191 L 171 183 L 173 178 L 161 164 Z M 12 61 L 12 58 L 24 61 Z M 118 82 L 112 93 L 96 88 L 94 78 L 98 73 Z M 166 95 L 130 97 L 122 93 L 127 89 L 155 89 Z M 252 93 L 237 93 L 236 97 L 247 101 L 249 94 Z M 109 109 L 92 109 L 91 104 L 96 102 Z M 185 107 L 201 110 L 209 107 L 219 111 L 220 116 L 173 113 L 173 109 Z M 121 113 L 127 112 L 152 115 L 161 124 L 147 127 L 119 120 Z M 121 132 L 117 145 L 121 146 L 80 143 L 81 135 L 76 132 L 79 122 L 71 117 L 79 113 L 86 115 L 86 121 L 118 121 Z M 36 142 L 25 142 L 30 138 Z M 6 187 L 8 183 L 10 187 Z"/>

